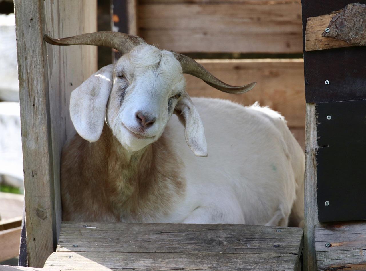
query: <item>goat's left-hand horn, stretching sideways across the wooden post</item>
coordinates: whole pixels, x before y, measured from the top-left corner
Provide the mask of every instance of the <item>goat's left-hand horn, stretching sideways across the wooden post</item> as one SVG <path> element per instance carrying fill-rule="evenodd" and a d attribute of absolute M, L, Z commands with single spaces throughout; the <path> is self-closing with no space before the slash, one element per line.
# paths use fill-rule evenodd
<path fill-rule="evenodd" d="M 107 46 L 117 49 L 121 54 L 129 52 L 139 44 L 146 43 L 140 37 L 112 31 L 100 31 L 60 39 L 44 35 L 44 40 L 53 45 L 88 44 Z"/>

